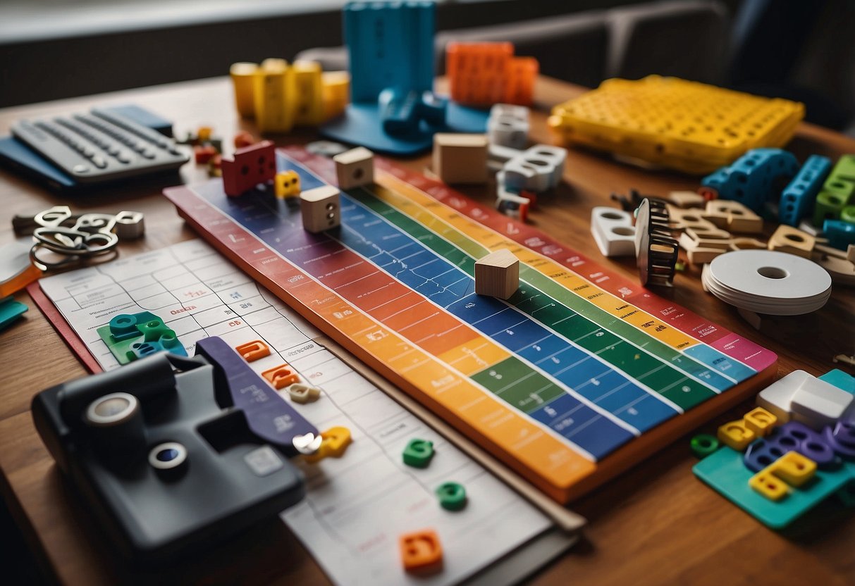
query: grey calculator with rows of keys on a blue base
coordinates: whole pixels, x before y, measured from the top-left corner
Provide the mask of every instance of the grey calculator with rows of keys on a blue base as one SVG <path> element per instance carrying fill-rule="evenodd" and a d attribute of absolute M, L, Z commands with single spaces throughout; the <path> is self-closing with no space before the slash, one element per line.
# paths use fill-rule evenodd
<path fill-rule="evenodd" d="M 19 120 L 12 133 L 80 183 L 168 171 L 190 160 L 174 140 L 102 108 Z"/>

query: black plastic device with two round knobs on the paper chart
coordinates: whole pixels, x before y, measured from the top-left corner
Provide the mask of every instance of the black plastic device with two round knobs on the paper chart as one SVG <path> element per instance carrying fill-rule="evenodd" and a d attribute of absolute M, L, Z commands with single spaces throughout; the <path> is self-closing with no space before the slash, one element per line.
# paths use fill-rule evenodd
<path fill-rule="evenodd" d="M 241 370 L 237 393 L 265 384 L 249 378 Z M 286 450 L 233 407 L 234 385 L 210 356 L 161 353 L 44 390 L 32 417 L 109 541 L 130 560 L 167 562 L 303 498 Z"/>

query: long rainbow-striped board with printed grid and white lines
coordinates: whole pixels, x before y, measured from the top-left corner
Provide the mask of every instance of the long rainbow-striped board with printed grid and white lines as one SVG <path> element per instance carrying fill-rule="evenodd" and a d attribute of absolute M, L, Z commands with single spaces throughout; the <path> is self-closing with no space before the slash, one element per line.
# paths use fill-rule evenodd
<path fill-rule="evenodd" d="M 304 231 L 268 191 L 164 193 L 209 243 L 557 501 L 592 489 L 768 384 L 776 356 L 530 226 L 375 158 L 341 226 Z M 282 149 L 303 189 L 333 161 Z M 476 296 L 475 260 L 510 249 L 520 289 Z"/>

